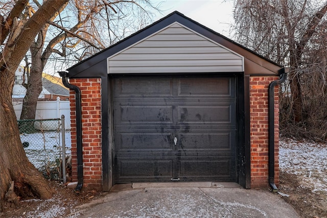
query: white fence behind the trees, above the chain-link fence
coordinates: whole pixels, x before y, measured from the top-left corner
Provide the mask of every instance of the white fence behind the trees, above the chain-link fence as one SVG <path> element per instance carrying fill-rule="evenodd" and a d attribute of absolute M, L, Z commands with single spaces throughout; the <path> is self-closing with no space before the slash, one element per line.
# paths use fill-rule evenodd
<path fill-rule="evenodd" d="M 17 120 L 20 118 L 22 102 L 13 102 Z M 71 108 L 69 101 L 37 102 L 35 119 L 53 119 L 65 116 L 65 129 L 71 129 Z"/>

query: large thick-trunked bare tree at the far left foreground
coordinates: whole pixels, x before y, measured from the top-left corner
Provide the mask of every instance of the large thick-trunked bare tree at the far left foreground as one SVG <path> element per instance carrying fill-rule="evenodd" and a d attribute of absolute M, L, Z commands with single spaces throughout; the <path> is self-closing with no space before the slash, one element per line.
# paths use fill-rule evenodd
<path fill-rule="evenodd" d="M 5 2 L 7 10 L 0 15 L 0 201 L 16 203 L 14 193 L 7 192 L 12 181 L 16 190 L 41 199 L 51 198 L 54 189 L 27 159 L 22 148 L 16 115 L 11 100 L 15 71 L 35 36 L 68 0 L 43 1 L 42 6 L 28 20 L 21 20 L 21 12 L 28 1 Z M 10 189 L 12 190 L 12 189 Z M 7 195 L 6 195 L 7 193 Z M 12 194 L 12 195 L 11 195 Z M 2 209 L 2 208 L 1 208 Z"/>

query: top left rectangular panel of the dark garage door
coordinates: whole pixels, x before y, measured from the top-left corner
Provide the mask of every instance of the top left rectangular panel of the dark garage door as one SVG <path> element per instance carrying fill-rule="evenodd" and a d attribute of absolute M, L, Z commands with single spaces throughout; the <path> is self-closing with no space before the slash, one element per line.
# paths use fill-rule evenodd
<path fill-rule="evenodd" d="M 117 96 L 124 95 L 172 95 L 171 78 L 124 78 L 115 86 Z"/>

